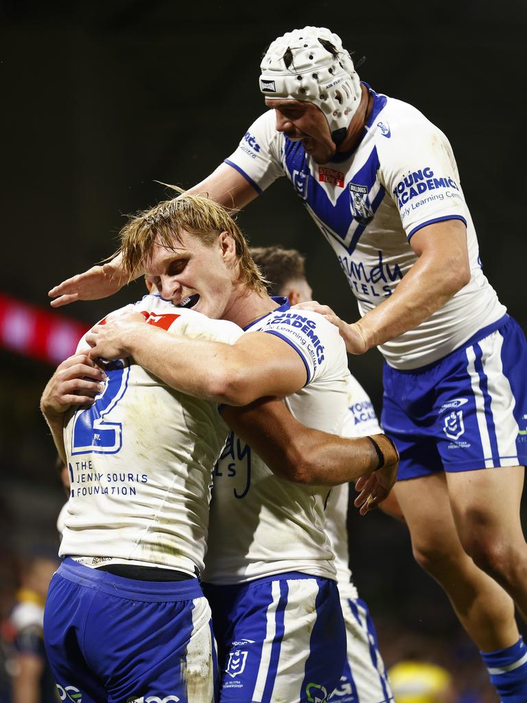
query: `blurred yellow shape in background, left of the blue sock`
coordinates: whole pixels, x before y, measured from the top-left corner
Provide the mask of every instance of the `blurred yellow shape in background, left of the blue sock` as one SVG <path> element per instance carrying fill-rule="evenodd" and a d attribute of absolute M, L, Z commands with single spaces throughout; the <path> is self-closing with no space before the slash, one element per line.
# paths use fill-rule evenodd
<path fill-rule="evenodd" d="M 452 700 L 452 676 L 428 662 L 399 662 L 389 670 L 396 703 L 446 703 Z"/>

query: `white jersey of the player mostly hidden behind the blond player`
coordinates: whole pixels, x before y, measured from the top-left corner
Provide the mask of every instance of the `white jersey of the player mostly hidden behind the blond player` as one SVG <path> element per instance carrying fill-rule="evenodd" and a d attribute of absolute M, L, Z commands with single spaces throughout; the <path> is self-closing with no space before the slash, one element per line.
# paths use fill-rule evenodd
<path fill-rule="evenodd" d="M 348 412 L 342 433 L 344 437 L 365 437 L 367 434 L 380 434 L 377 415 L 370 401 L 370 396 L 351 374 L 348 376 Z M 351 583 L 349 569 L 348 515 L 350 484 L 334 486 L 326 506 L 326 530 L 330 537 L 335 555 L 337 581 L 342 598 L 357 598 L 357 589 Z"/>

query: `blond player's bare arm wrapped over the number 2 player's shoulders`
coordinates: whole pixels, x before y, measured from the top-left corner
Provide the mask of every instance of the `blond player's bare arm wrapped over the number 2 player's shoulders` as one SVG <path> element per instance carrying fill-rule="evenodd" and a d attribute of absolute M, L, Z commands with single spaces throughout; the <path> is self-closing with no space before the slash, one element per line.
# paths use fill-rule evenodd
<path fill-rule="evenodd" d="M 229 405 L 304 387 L 306 367 L 280 337 L 254 332 L 235 344 L 193 340 L 147 325 L 136 312 L 107 318 L 86 335 L 92 359 L 133 356 L 178 391 Z"/>

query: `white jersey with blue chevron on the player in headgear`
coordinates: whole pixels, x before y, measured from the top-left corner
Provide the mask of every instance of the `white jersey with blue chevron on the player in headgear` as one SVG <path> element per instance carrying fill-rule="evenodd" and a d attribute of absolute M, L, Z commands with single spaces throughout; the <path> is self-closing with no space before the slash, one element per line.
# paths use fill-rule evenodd
<path fill-rule="evenodd" d="M 319 166 L 300 141 L 276 131 L 268 110 L 226 163 L 259 193 L 287 176 L 336 252 L 361 315 L 391 295 L 417 260 L 409 244 L 416 231 L 448 219 L 466 224 L 470 282 L 427 321 L 379 347 L 391 366 L 417 368 L 460 347 L 505 307 L 481 270 L 448 139 L 419 110 L 367 87 L 373 108 L 351 153 Z"/>

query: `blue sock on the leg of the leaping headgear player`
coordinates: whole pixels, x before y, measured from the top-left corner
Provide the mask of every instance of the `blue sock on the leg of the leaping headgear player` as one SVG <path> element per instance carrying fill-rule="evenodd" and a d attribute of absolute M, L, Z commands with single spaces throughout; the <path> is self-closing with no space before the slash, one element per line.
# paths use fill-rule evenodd
<path fill-rule="evenodd" d="M 502 703 L 527 701 L 527 647 L 523 638 L 496 652 L 479 652 Z"/>

